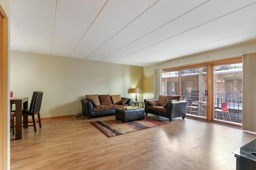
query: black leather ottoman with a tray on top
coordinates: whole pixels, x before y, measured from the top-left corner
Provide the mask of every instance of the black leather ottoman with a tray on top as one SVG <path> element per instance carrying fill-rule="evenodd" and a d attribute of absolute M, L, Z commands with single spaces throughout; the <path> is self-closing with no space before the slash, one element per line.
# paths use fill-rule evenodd
<path fill-rule="evenodd" d="M 124 123 L 132 120 L 142 120 L 144 119 L 144 113 L 145 110 L 142 108 L 130 110 L 118 108 L 116 109 L 116 120 L 121 120 Z"/>

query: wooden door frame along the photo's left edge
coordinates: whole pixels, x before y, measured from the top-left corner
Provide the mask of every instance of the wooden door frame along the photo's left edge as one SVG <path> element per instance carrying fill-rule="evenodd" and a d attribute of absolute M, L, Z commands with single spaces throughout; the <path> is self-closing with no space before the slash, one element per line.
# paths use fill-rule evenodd
<path fill-rule="evenodd" d="M 10 128 L 10 111 L 8 111 L 8 108 L 10 108 L 8 105 L 8 101 L 10 101 L 10 95 L 8 95 L 8 17 L 1 4 L 0 16 L 0 169 L 10 169 L 10 131 L 8 130 Z"/>

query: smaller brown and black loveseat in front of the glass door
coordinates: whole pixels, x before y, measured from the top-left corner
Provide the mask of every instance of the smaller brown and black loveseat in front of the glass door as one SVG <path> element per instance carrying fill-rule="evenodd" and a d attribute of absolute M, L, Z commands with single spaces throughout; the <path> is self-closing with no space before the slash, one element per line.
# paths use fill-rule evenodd
<path fill-rule="evenodd" d="M 177 98 L 177 99 L 176 99 Z M 158 98 L 145 99 L 145 113 L 148 113 L 167 117 L 170 121 L 176 117 L 186 116 L 186 104 L 185 100 L 179 100 L 180 96 L 165 96 L 160 95 Z"/>

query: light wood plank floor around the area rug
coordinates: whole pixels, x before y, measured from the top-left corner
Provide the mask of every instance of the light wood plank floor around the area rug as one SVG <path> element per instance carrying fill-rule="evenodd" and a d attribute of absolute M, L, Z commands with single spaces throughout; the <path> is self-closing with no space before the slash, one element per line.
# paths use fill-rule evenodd
<path fill-rule="evenodd" d="M 235 170 L 232 151 L 256 139 L 254 133 L 187 117 L 110 138 L 89 123 L 110 118 L 46 119 L 37 132 L 24 129 L 23 139 L 11 136 L 11 170 Z"/>

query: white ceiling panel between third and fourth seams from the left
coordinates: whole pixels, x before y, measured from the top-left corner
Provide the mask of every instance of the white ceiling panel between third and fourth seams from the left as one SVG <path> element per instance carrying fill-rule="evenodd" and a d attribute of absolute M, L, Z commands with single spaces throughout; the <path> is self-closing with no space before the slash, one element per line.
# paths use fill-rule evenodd
<path fill-rule="evenodd" d="M 122 30 L 156 0 L 110 0 L 106 3 L 71 57 L 87 58 L 108 39 Z M 84 51 L 84 48 L 87 50 Z M 82 51 L 82 53 L 81 53 Z"/>

